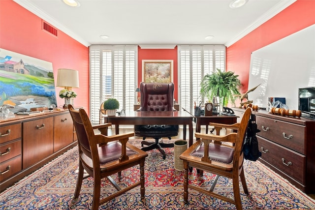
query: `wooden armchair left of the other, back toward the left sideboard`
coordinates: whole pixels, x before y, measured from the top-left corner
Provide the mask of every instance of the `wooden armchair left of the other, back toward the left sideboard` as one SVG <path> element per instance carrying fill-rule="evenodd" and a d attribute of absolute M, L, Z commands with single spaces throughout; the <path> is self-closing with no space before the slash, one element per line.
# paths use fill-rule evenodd
<path fill-rule="evenodd" d="M 79 174 L 73 199 L 79 197 L 82 181 L 87 178 L 83 178 L 85 170 L 89 174 L 88 177 L 94 179 L 92 210 L 98 210 L 99 205 L 138 185 L 140 185 L 141 200 L 144 200 L 144 163 L 148 154 L 127 143 L 128 138 L 134 136 L 134 133 L 106 136 L 107 127 L 111 123 L 92 126 L 84 109 L 76 111 L 72 105 L 68 105 L 68 108 L 75 126 L 79 148 Z M 95 134 L 94 129 L 98 129 L 101 134 Z M 110 177 L 118 173 L 121 178 L 121 171 L 138 164 L 140 165 L 139 181 L 123 189 Z M 100 185 L 103 178 L 107 178 L 118 192 L 100 200 Z"/>

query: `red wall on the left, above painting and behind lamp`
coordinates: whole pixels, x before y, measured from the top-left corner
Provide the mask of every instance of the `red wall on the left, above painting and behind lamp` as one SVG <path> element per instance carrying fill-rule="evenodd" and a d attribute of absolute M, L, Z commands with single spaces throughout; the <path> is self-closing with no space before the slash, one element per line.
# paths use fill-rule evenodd
<path fill-rule="evenodd" d="M 89 48 L 61 30 L 58 38 L 42 30 L 42 19 L 12 0 L 0 0 L 0 48 L 53 64 L 55 84 L 59 68 L 79 71 L 80 88 L 74 106 L 89 113 Z M 57 106 L 64 104 L 56 88 Z"/>

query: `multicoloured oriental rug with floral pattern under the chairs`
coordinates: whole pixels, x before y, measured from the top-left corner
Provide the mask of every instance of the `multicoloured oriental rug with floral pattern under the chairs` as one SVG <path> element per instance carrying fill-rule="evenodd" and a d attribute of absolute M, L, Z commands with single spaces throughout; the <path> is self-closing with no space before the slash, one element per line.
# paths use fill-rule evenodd
<path fill-rule="evenodd" d="M 172 140 L 174 142 L 175 140 Z M 167 142 L 166 140 L 164 142 Z M 140 147 L 140 140 L 129 143 Z M 189 189 L 189 204 L 183 200 L 183 172 L 174 169 L 174 149 L 167 148 L 166 158 L 157 150 L 148 151 L 145 163 L 145 202 L 140 199 L 140 187 L 101 205 L 100 210 L 235 210 L 235 206 Z M 30 176 L 0 193 L 0 210 L 89 210 L 93 196 L 93 179 L 83 180 L 80 196 L 72 198 L 78 168 L 77 147 L 68 150 Z M 315 201 L 274 173 L 259 161 L 245 161 L 245 177 L 249 195 L 241 186 L 243 209 L 248 210 L 314 210 Z M 119 184 L 139 179 L 138 167 L 122 172 L 123 179 L 112 178 Z M 189 182 L 211 185 L 215 175 L 196 170 L 189 173 Z M 103 180 L 101 194 L 109 195 L 115 188 Z M 220 177 L 215 191 L 233 198 L 232 181 Z"/>

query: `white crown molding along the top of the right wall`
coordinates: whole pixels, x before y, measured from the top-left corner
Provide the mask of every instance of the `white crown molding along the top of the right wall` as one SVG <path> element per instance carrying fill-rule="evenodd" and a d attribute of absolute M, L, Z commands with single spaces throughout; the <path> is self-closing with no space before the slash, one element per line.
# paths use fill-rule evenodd
<path fill-rule="evenodd" d="M 277 5 L 275 5 L 273 8 L 271 8 L 268 13 L 265 13 L 264 15 L 260 16 L 257 21 L 255 21 L 253 24 L 251 24 L 249 27 L 247 27 L 245 30 L 243 30 L 238 35 L 234 36 L 229 42 L 225 43 L 224 45 L 226 47 L 231 46 L 253 30 L 257 29 L 259 26 L 264 24 L 266 21 L 270 20 L 272 17 L 280 13 L 282 10 L 284 10 L 286 7 L 294 3 L 296 0 L 282 0 Z"/>

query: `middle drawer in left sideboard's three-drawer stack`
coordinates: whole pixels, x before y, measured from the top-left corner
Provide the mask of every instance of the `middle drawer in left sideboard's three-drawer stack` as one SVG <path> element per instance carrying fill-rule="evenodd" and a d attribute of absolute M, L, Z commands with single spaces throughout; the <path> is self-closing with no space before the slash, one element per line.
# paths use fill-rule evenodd
<path fill-rule="evenodd" d="M 1 152 L 0 163 L 21 154 L 21 150 L 22 150 L 21 140 L 11 142 L 9 144 L 1 145 L 0 146 L 0 152 Z"/>

